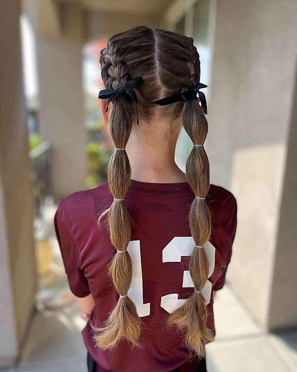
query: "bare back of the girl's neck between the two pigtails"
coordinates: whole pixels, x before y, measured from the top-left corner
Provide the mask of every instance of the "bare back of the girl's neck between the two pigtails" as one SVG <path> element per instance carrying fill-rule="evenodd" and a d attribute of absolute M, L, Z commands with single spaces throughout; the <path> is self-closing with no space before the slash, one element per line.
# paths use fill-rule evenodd
<path fill-rule="evenodd" d="M 131 179 L 150 183 L 185 182 L 185 174 L 174 161 L 180 121 L 141 122 L 126 146 Z"/>

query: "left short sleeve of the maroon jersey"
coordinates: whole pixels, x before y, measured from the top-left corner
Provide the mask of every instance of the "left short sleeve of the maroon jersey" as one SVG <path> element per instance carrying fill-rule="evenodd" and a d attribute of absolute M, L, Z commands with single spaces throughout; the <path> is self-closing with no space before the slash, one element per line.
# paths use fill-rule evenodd
<path fill-rule="evenodd" d="M 85 297 L 90 290 L 88 280 L 79 268 L 79 247 L 60 207 L 56 211 L 54 224 L 71 292 L 77 297 Z"/>

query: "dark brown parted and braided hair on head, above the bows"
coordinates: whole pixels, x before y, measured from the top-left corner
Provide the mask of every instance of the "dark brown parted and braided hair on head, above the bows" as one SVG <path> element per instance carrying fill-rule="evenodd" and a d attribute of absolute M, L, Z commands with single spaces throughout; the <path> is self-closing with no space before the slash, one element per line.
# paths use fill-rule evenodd
<path fill-rule="evenodd" d="M 100 63 L 106 89 L 143 77 L 138 109 L 144 119 L 156 110 L 154 100 L 190 89 L 200 79 L 199 54 L 192 38 L 144 26 L 112 36 L 101 51 Z M 164 115 L 178 117 L 182 108 L 180 102 L 170 105 Z"/>

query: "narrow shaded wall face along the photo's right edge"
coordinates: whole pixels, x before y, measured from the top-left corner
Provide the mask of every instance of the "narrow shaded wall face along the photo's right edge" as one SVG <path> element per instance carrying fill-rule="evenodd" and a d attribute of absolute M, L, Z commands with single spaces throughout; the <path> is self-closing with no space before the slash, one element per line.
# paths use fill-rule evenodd
<path fill-rule="evenodd" d="M 297 323 L 297 64 L 292 103 L 270 295 L 268 324 L 272 329 L 289 328 Z M 279 311 L 280 305 L 285 308 L 285 314 Z"/>

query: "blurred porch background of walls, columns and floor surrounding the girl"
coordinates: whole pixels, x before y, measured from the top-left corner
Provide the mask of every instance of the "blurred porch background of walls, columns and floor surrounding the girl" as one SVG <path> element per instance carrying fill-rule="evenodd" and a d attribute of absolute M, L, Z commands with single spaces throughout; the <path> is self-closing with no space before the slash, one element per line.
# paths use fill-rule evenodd
<path fill-rule="evenodd" d="M 208 371 L 297 371 L 296 0 L 0 4 L 0 368 L 87 370 L 53 216 L 61 198 L 107 180 L 99 54 L 145 25 L 194 39 L 211 182 L 238 202 Z M 180 167 L 191 149 L 182 132 Z"/>

